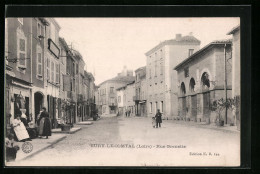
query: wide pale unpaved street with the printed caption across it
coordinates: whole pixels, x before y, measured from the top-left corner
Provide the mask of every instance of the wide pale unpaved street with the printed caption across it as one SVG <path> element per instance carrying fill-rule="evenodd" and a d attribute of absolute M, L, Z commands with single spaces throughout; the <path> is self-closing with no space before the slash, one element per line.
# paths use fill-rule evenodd
<path fill-rule="evenodd" d="M 239 166 L 239 133 L 151 118 L 102 118 L 17 166 Z"/>

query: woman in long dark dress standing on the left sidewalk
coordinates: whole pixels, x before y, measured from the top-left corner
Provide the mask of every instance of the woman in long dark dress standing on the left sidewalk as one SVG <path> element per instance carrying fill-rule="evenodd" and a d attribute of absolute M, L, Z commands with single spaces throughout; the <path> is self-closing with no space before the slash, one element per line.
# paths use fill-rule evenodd
<path fill-rule="evenodd" d="M 39 136 L 46 136 L 48 139 L 51 136 L 51 121 L 45 107 L 42 108 L 39 123 Z"/>

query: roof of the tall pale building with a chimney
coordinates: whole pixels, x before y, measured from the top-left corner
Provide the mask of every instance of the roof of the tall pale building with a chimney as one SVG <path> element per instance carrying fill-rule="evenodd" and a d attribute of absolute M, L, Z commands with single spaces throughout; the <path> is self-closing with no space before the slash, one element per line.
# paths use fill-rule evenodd
<path fill-rule="evenodd" d="M 176 39 L 171 39 L 171 40 L 165 40 L 161 43 L 159 43 L 157 46 L 155 46 L 154 48 L 152 48 L 151 50 L 147 51 L 145 53 L 146 56 L 148 56 L 149 54 L 151 54 L 152 52 L 156 51 L 157 49 L 161 48 L 162 46 L 165 45 L 176 45 L 176 44 L 180 44 L 180 43 L 193 43 L 193 44 L 200 44 L 200 40 L 198 40 L 197 38 L 195 38 L 194 36 L 182 36 L 180 39 L 176 40 Z"/>

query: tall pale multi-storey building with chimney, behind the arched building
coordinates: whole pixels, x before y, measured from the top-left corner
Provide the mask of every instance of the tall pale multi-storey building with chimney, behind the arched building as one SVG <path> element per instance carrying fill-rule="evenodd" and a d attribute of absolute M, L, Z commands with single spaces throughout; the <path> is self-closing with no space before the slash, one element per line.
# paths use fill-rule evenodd
<path fill-rule="evenodd" d="M 177 74 L 172 68 L 200 47 L 200 41 L 192 36 L 165 40 L 149 50 L 146 55 L 147 114 L 152 117 L 160 109 L 163 117 L 177 115 Z"/>

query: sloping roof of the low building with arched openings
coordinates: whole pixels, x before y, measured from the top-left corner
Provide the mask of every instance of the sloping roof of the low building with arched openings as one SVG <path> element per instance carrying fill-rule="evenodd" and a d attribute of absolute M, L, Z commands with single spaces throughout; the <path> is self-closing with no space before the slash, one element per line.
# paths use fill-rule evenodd
<path fill-rule="evenodd" d="M 232 39 L 226 39 L 226 40 L 216 40 L 216 41 L 212 41 L 210 42 L 208 45 L 206 45 L 205 47 L 201 48 L 200 50 L 198 50 L 197 52 L 195 52 L 194 54 L 192 54 L 190 57 L 188 57 L 187 59 L 183 60 L 181 63 L 179 63 L 177 66 L 174 67 L 174 70 L 178 70 L 182 65 L 190 62 L 191 60 L 195 59 L 197 55 L 203 53 L 203 51 L 212 48 L 212 46 L 214 45 L 222 45 L 222 44 L 231 44 L 232 43 Z"/>

